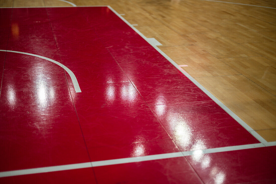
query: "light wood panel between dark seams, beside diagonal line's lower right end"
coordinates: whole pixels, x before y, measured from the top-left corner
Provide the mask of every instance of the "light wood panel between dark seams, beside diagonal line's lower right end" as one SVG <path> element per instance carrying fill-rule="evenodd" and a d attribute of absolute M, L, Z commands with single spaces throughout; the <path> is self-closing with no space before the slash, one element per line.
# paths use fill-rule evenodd
<path fill-rule="evenodd" d="M 245 76 L 196 80 L 254 130 L 276 128 L 276 97 Z"/>

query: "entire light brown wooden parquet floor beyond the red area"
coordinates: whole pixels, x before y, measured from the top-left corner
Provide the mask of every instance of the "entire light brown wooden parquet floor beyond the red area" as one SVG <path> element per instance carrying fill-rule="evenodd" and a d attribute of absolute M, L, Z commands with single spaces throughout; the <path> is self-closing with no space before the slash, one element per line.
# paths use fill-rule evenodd
<path fill-rule="evenodd" d="M 223 0 L 221 0 L 223 1 Z M 228 0 L 276 8 L 276 1 Z M 70 0 L 110 5 L 266 141 L 276 141 L 276 9 L 201 0 Z M 0 0 L 1 7 L 70 6 Z"/>

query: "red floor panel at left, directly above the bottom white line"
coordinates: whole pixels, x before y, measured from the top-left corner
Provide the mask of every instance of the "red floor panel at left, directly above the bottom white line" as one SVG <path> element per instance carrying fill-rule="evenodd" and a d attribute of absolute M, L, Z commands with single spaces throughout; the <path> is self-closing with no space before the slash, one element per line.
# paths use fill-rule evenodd
<path fill-rule="evenodd" d="M 0 118 L 1 171 L 89 162 L 73 113 Z"/>

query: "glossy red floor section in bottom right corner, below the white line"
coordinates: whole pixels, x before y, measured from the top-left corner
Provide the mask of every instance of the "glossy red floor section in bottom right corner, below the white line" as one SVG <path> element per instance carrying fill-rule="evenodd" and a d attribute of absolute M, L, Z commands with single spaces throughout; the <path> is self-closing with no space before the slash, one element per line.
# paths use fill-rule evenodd
<path fill-rule="evenodd" d="M 275 154 L 267 147 L 186 157 L 204 183 L 274 183 Z M 266 181 L 268 180 L 268 181 Z"/>

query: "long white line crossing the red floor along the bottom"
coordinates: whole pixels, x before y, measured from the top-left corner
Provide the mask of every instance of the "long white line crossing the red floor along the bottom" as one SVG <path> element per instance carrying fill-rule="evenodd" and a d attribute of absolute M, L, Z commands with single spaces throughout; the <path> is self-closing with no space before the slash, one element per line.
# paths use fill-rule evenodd
<path fill-rule="evenodd" d="M 197 154 L 235 151 L 235 150 L 251 149 L 251 148 L 257 148 L 257 147 L 264 147 L 264 145 L 262 143 L 246 144 L 246 145 L 240 145 L 240 146 L 219 147 L 219 148 L 211 148 L 211 149 L 196 150 L 196 151 L 174 152 L 174 153 L 141 156 L 141 157 L 130 157 L 130 158 L 122 158 L 122 159 L 84 162 L 79 164 L 57 165 L 57 166 L 51 166 L 51 167 L 39 167 L 39 168 L 33 168 L 33 169 L 4 171 L 4 172 L 0 172 L 0 178 L 9 177 L 9 176 L 62 171 L 62 170 L 83 169 L 83 168 L 89 168 L 89 167 L 126 164 L 126 163 L 133 163 L 133 162 L 143 162 L 143 161 L 150 161 L 150 160 L 168 159 L 168 158 L 191 156 L 191 155 L 197 155 Z"/>

